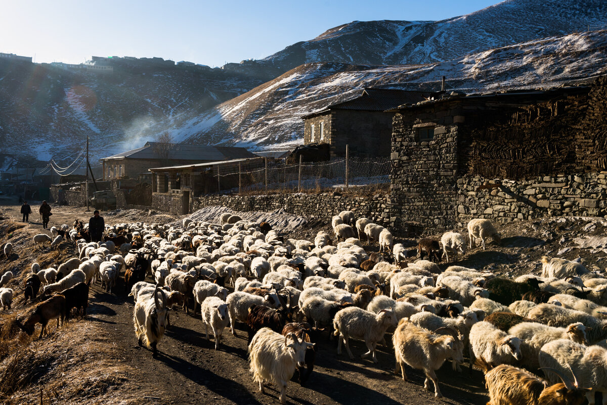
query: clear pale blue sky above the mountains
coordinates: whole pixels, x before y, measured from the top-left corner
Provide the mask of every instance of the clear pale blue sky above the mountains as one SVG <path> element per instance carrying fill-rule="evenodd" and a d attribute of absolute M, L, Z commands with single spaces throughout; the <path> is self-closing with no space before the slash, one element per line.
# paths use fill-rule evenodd
<path fill-rule="evenodd" d="M 261 59 L 354 20 L 440 20 L 497 2 L 2 0 L 0 52 L 36 62 L 117 55 L 221 66 Z"/>

